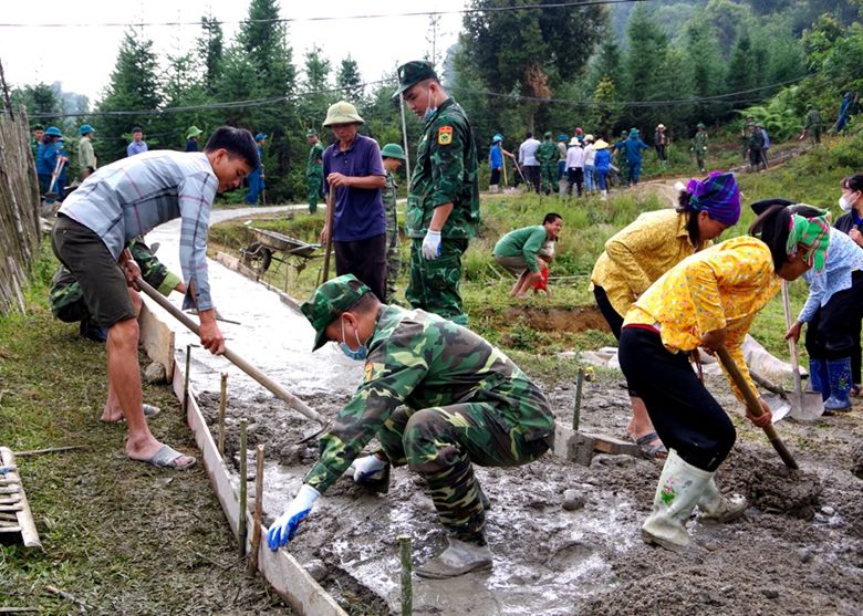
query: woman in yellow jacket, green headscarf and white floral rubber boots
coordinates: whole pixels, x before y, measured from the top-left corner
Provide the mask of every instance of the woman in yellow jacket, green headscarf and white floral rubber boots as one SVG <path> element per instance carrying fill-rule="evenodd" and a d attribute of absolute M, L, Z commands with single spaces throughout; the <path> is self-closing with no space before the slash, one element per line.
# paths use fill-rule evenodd
<path fill-rule="evenodd" d="M 750 236 L 734 238 L 694 254 L 657 280 L 633 304 L 621 332 L 620 361 L 638 391 L 656 431 L 668 446 L 653 513 L 642 526 L 645 542 L 668 550 L 689 543 L 686 521 L 695 505 L 703 520 L 728 522 L 746 499 L 726 499 L 714 481 L 737 438 L 734 425 L 689 364 L 689 353 L 725 345 L 755 389 L 744 361 L 744 337 L 758 312 L 779 291 L 779 280 L 796 280 L 824 268 L 830 215 L 811 206 L 792 211 L 773 206 L 758 217 Z M 730 380 L 730 379 L 729 379 Z M 742 395 L 734 383 L 738 399 Z M 747 417 L 759 427 L 770 409 Z"/>

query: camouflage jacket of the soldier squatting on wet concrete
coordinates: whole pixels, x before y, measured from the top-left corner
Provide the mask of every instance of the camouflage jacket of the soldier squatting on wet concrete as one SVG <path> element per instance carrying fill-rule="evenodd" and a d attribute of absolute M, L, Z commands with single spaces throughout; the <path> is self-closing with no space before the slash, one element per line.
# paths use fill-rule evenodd
<path fill-rule="evenodd" d="M 367 344 L 363 383 L 321 438 L 321 459 L 304 479 L 319 492 L 342 476 L 401 405 L 419 410 L 487 403 L 510 434 L 527 441 L 554 434 L 554 417 L 540 388 L 466 327 L 422 310 L 384 305 Z"/>

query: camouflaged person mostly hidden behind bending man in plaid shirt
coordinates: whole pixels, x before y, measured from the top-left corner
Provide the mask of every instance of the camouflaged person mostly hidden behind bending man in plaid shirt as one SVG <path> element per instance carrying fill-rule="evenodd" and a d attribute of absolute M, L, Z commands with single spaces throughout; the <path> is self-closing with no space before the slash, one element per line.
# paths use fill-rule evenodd
<path fill-rule="evenodd" d="M 147 244 L 144 243 L 144 238 L 141 236 L 133 238 L 126 244 L 126 248 L 129 249 L 132 258 L 135 259 L 141 268 L 142 278 L 150 286 L 157 289 L 159 293 L 168 295 L 173 290 L 180 293 L 186 292 L 186 285 L 183 284 L 180 278 L 156 259 Z M 51 289 L 49 290 L 49 299 L 51 301 L 51 313 L 54 315 L 54 319 L 59 319 L 64 323 L 80 321 L 79 333 L 82 337 L 93 342 L 105 342 L 107 340 L 107 331 L 91 319 L 84 301 L 84 292 L 77 280 L 62 264 L 54 273 Z"/>

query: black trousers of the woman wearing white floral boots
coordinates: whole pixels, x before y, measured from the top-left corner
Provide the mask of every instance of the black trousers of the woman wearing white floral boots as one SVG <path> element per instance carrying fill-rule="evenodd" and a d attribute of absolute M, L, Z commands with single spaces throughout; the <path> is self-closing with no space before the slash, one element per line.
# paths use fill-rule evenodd
<path fill-rule="evenodd" d="M 621 332 L 617 358 L 665 446 L 696 468 L 709 472 L 719 468 L 737 432 L 698 380 L 688 356 L 670 353 L 657 332 L 628 326 Z"/>

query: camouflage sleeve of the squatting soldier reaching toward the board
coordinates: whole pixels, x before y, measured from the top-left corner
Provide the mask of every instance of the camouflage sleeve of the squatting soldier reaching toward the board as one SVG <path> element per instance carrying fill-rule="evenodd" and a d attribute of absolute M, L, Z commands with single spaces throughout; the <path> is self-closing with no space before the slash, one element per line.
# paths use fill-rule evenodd
<path fill-rule="evenodd" d="M 389 341 L 370 355 L 365 380 L 339 411 L 333 429 L 321 438 L 321 458 L 303 482 L 321 493 L 335 483 L 427 372 L 422 345 L 412 347 Z"/>

